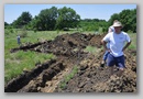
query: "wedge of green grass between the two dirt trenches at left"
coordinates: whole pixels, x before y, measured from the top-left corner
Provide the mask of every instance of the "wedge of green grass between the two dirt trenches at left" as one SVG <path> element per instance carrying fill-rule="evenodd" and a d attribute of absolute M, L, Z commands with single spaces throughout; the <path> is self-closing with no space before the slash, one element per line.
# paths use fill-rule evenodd
<path fill-rule="evenodd" d="M 28 70 L 35 67 L 36 63 L 43 63 L 47 59 L 55 58 L 53 54 L 43 54 L 36 52 L 23 52 L 12 53 L 6 56 L 4 59 L 4 81 L 8 82 L 13 77 L 20 75 L 24 68 Z"/>

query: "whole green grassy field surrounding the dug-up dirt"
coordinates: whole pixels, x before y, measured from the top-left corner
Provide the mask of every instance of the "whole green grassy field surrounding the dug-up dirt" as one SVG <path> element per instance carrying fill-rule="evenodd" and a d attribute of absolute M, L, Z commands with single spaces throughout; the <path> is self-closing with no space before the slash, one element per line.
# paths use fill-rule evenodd
<path fill-rule="evenodd" d="M 23 37 L 21 38 L 22 44 L 25 43 L 36 43 L 43 40 L 54 40 L 57 35 L 62 35 L 65 33 L 75 33 L 76 31 L 25 31 L 25 30 L 4 30 L 4 82 L 7 84 L 12 78 L 20 75 L 23 69 L 32 69 L 34 68 L 36 63 L 43 63 L 51 58 L 56 58 L 53 54 L 42 54 L 36 52 L 16 52 L 10 53 L 11 48 L 19 47 L 16 43 L 16 35 L 20 34 Z M 82 33 L 91 33 L 95 32 L 82 32 Z M 136 33 L 130 33 L 132 38 L 132 44 L 129 48 L 136 50 Z M 96 48 L 91 46 L 87 47 L 89 52 L 96 52 Z"/>

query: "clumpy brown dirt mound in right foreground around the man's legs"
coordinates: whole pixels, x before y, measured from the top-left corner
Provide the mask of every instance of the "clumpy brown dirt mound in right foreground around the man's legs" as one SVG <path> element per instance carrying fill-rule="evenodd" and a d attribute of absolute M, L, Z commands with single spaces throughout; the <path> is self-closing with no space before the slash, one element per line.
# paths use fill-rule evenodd
<path fill-rule="evenodd" d="M 130 53 L 130 52 L 127 52 Z M 131 55 L 130 55 L 131 56 Z M 129 56 L 129 57 L 130 57 Z M 96 57 L 86 58 L 80 63 L 78 73 L 62 89 L 61 86 L 56 92 L 134 92 L 136 91 L 136 65 L 127 61 L 127 69 L 122 77 L 110 77 L 108 67 L 99 67 L 99 61 Z M 92 63 L 94 61 L 94 63 Z M 117 70 L 118 72 L 118 70 Z"/>

